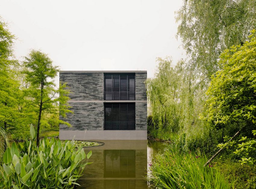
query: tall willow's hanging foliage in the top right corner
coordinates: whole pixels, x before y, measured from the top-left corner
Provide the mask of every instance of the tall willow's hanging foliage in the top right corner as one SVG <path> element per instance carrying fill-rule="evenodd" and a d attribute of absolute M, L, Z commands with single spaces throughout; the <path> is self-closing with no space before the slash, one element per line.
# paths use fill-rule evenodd
<path fill-rule="evenodd" d="M 177 35 L 190 59 L 188 68 L 203 84 L 218 69 L 224 49 L 244 44 L 256 28 L 255 0 L 184 0 L 177 11 Z"/>

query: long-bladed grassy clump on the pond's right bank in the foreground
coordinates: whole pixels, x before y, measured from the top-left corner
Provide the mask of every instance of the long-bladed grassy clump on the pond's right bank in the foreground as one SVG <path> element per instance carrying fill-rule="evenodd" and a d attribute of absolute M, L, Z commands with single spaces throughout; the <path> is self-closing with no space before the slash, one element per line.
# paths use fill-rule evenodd
<path fill-rule="evenodd" d="M 199 150 L 185 152 L 170 145 L 157 155 L 151 165 L 148 180 L 157 188 L 230 188 L 223 175 L 213 165 L 203 167 L 207 157 Z"/>

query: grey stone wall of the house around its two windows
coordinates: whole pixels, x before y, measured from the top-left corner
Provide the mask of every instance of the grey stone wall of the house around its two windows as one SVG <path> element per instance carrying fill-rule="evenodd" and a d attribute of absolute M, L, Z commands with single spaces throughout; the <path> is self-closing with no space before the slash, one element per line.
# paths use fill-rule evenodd
<path fill-rule="evenodd" d="M 135 100 L 105 101 L 104 73 L 135 73 Z M 90 140 L 100 140 L 102 132 L 104 132 L 104 102 L 135 102 L 136 130 L 140 130 L 140 133 L 141 131 L 145 131 L 146 134 L 147 96 L 144 84 L 146 79 L 146 71 L 60 71 L 60 82 L 66 82 L 71 91 L 69 104 L 72 106 L 71 110 L 74 112 L 73 114 L 68 114 L 65 118 L 60 116 L 60 119 L 72 125 L 72 127 L 60 125 L 60 138 L 64 140 L 72 139 L 75 133 L 78 136 L 77 131 L 87 130 L 92 135 L 90 136 Z M 101 131 L 100 134 L 97 131 Z M 122 131 L 119 133 L 126 135 L 124 138 L 127 140 L 127 136 L 130 136 L 133 132 Z M 138 140 L 142 140 L 142 138 L 146 140 L 145 134 L 143 133 L 141 138 L 138 137 Z M 93 135 L 95 135 L 95 138 Z M 81 136 L 80 133 L 79 136 Z M 82 140 L 77 137 L 75 139 Z M 120 139 L 122 139 L 122 136 L 120 136 Z"/>

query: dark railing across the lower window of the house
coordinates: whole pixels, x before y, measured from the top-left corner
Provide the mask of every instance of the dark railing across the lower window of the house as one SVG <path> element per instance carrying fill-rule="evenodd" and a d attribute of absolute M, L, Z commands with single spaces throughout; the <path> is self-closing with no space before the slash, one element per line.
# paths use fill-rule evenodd
<path fill-rule="evenodd" d="M 135 130 L 135 122 L 104 122 L 104 130 Z"/>

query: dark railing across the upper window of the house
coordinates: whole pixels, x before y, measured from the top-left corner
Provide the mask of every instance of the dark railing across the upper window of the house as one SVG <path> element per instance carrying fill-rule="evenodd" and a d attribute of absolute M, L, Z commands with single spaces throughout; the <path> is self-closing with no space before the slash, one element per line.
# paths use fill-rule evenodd
<path fill-rule="evenodd" d="M 105 91 L 104 100 L 132 101 L 135 100 L 135 91 Z"/>

